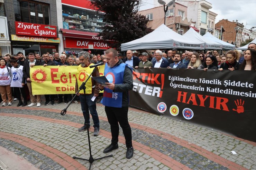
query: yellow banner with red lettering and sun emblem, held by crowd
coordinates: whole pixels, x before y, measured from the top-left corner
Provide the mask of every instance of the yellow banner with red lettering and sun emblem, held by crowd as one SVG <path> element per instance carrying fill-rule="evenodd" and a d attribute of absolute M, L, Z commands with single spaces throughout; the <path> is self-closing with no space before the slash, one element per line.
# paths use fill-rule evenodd
<path fill-rule="evenodd" d="M 77 66 L 34 66 L 30 68 L 33 95 L 75 94 Z"/>

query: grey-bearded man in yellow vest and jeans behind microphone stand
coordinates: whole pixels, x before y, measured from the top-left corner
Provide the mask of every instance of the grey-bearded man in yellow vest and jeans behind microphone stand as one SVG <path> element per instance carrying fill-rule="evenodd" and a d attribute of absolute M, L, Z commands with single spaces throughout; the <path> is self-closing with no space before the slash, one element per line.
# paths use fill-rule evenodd
<path fill-rule="evenodd" d="M 80 52 L 79 60 L 81 64 L 77 67 L 75 92 L 78 91 L 78 88 L 88 78 L 88 76 L 91 74 L 91 72 L 94 69 L 94 67 L 92 67 L 93 64 L 90 62 L 90 57 L 88 52 L 86 51 Z M 99 77 L 100 76 L 99 70 L 95 69 L 95 71 L 92 73 L 92 76 Z M 93 124 L 94 124 L 93 135 L 98 136 L 100 133 L 100 121 L 99 121 L 98 113 L 96 110 L 96 101 L 95 99 L 93 101 L 91 99 L 93 98 L 93 96 L 97 97 L 99 95 L 99 84 L 95 82 L 92 78 L 89 78 L 85 84 L 85 87 L 86 87 L 85 94 L 83 89 L 77 94 L 77 96 L 80 96 L 81 109 L 84 116 L 84 126 L 79 128 L 78 131 L 81 132 L 87 129 L 85 125 L 86 122 L 89 123 L 89 129 L 90 129 L 90 115 L 89 115 L 89 110 L 90 110 Z"/>

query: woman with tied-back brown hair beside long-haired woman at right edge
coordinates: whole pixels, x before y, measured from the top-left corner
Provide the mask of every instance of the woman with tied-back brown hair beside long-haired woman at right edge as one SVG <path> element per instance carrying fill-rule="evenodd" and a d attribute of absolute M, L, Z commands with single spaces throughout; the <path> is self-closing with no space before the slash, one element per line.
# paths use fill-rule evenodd
<path fill-rule="evenodd" d="M 238 70 L 240 68 L 240 64 L 237 62 L 239 53 L 235 50 L 230 50 L 226 53 L 227 61 L 225 63 L 220 64 L 219 70 Z"/>

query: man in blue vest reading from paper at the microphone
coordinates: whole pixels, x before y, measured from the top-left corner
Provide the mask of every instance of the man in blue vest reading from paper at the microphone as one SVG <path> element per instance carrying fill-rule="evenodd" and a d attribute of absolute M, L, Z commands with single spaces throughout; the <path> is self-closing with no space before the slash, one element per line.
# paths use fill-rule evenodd
<path fill-rule="evenodd" d="M 104 75 L 109 83 L 102 86 L 104 89 L 102 104 L 105 106 L 108 122 L 111 129 L 111 144 L 104 149 L 104 153 L 108 153 L 118 148 L 118 135 L 120 124 L 127 147 L 126 158 L 130 159 L 133 156 L 133 147 L 131 141 L 131 128 L 128 122 L 128 91 L 132 90 L 132 69 L 126 63 L 121 63 L 118 59 L 118 53 L 115 49 L 106 51 L 107 66 L 104 69 Z"/>

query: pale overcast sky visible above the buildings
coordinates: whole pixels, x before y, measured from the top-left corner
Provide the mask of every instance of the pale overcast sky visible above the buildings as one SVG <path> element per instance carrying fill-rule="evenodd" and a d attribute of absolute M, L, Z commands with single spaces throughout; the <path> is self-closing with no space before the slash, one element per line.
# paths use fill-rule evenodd
<path fill-rule="evenodd" d="M 154 1 L 157 0 L 142 0 L 140 10 L 145 10 L 154 7 Z M 171 0 L 164 0 L 166 3 Z M 247 29 L 256 27 L 256 0 L 207 0 L 212 4 L 210 11 L 217 13 L 215 23 L 222 19 L 229 21 L 238 20 L 244 23 Z M 176 2 L 179 2 L 177 0 Z M 159 4 L 160 6 L 160 4 Z M 246 25 L 247 22 L 247 25 Z"/>

